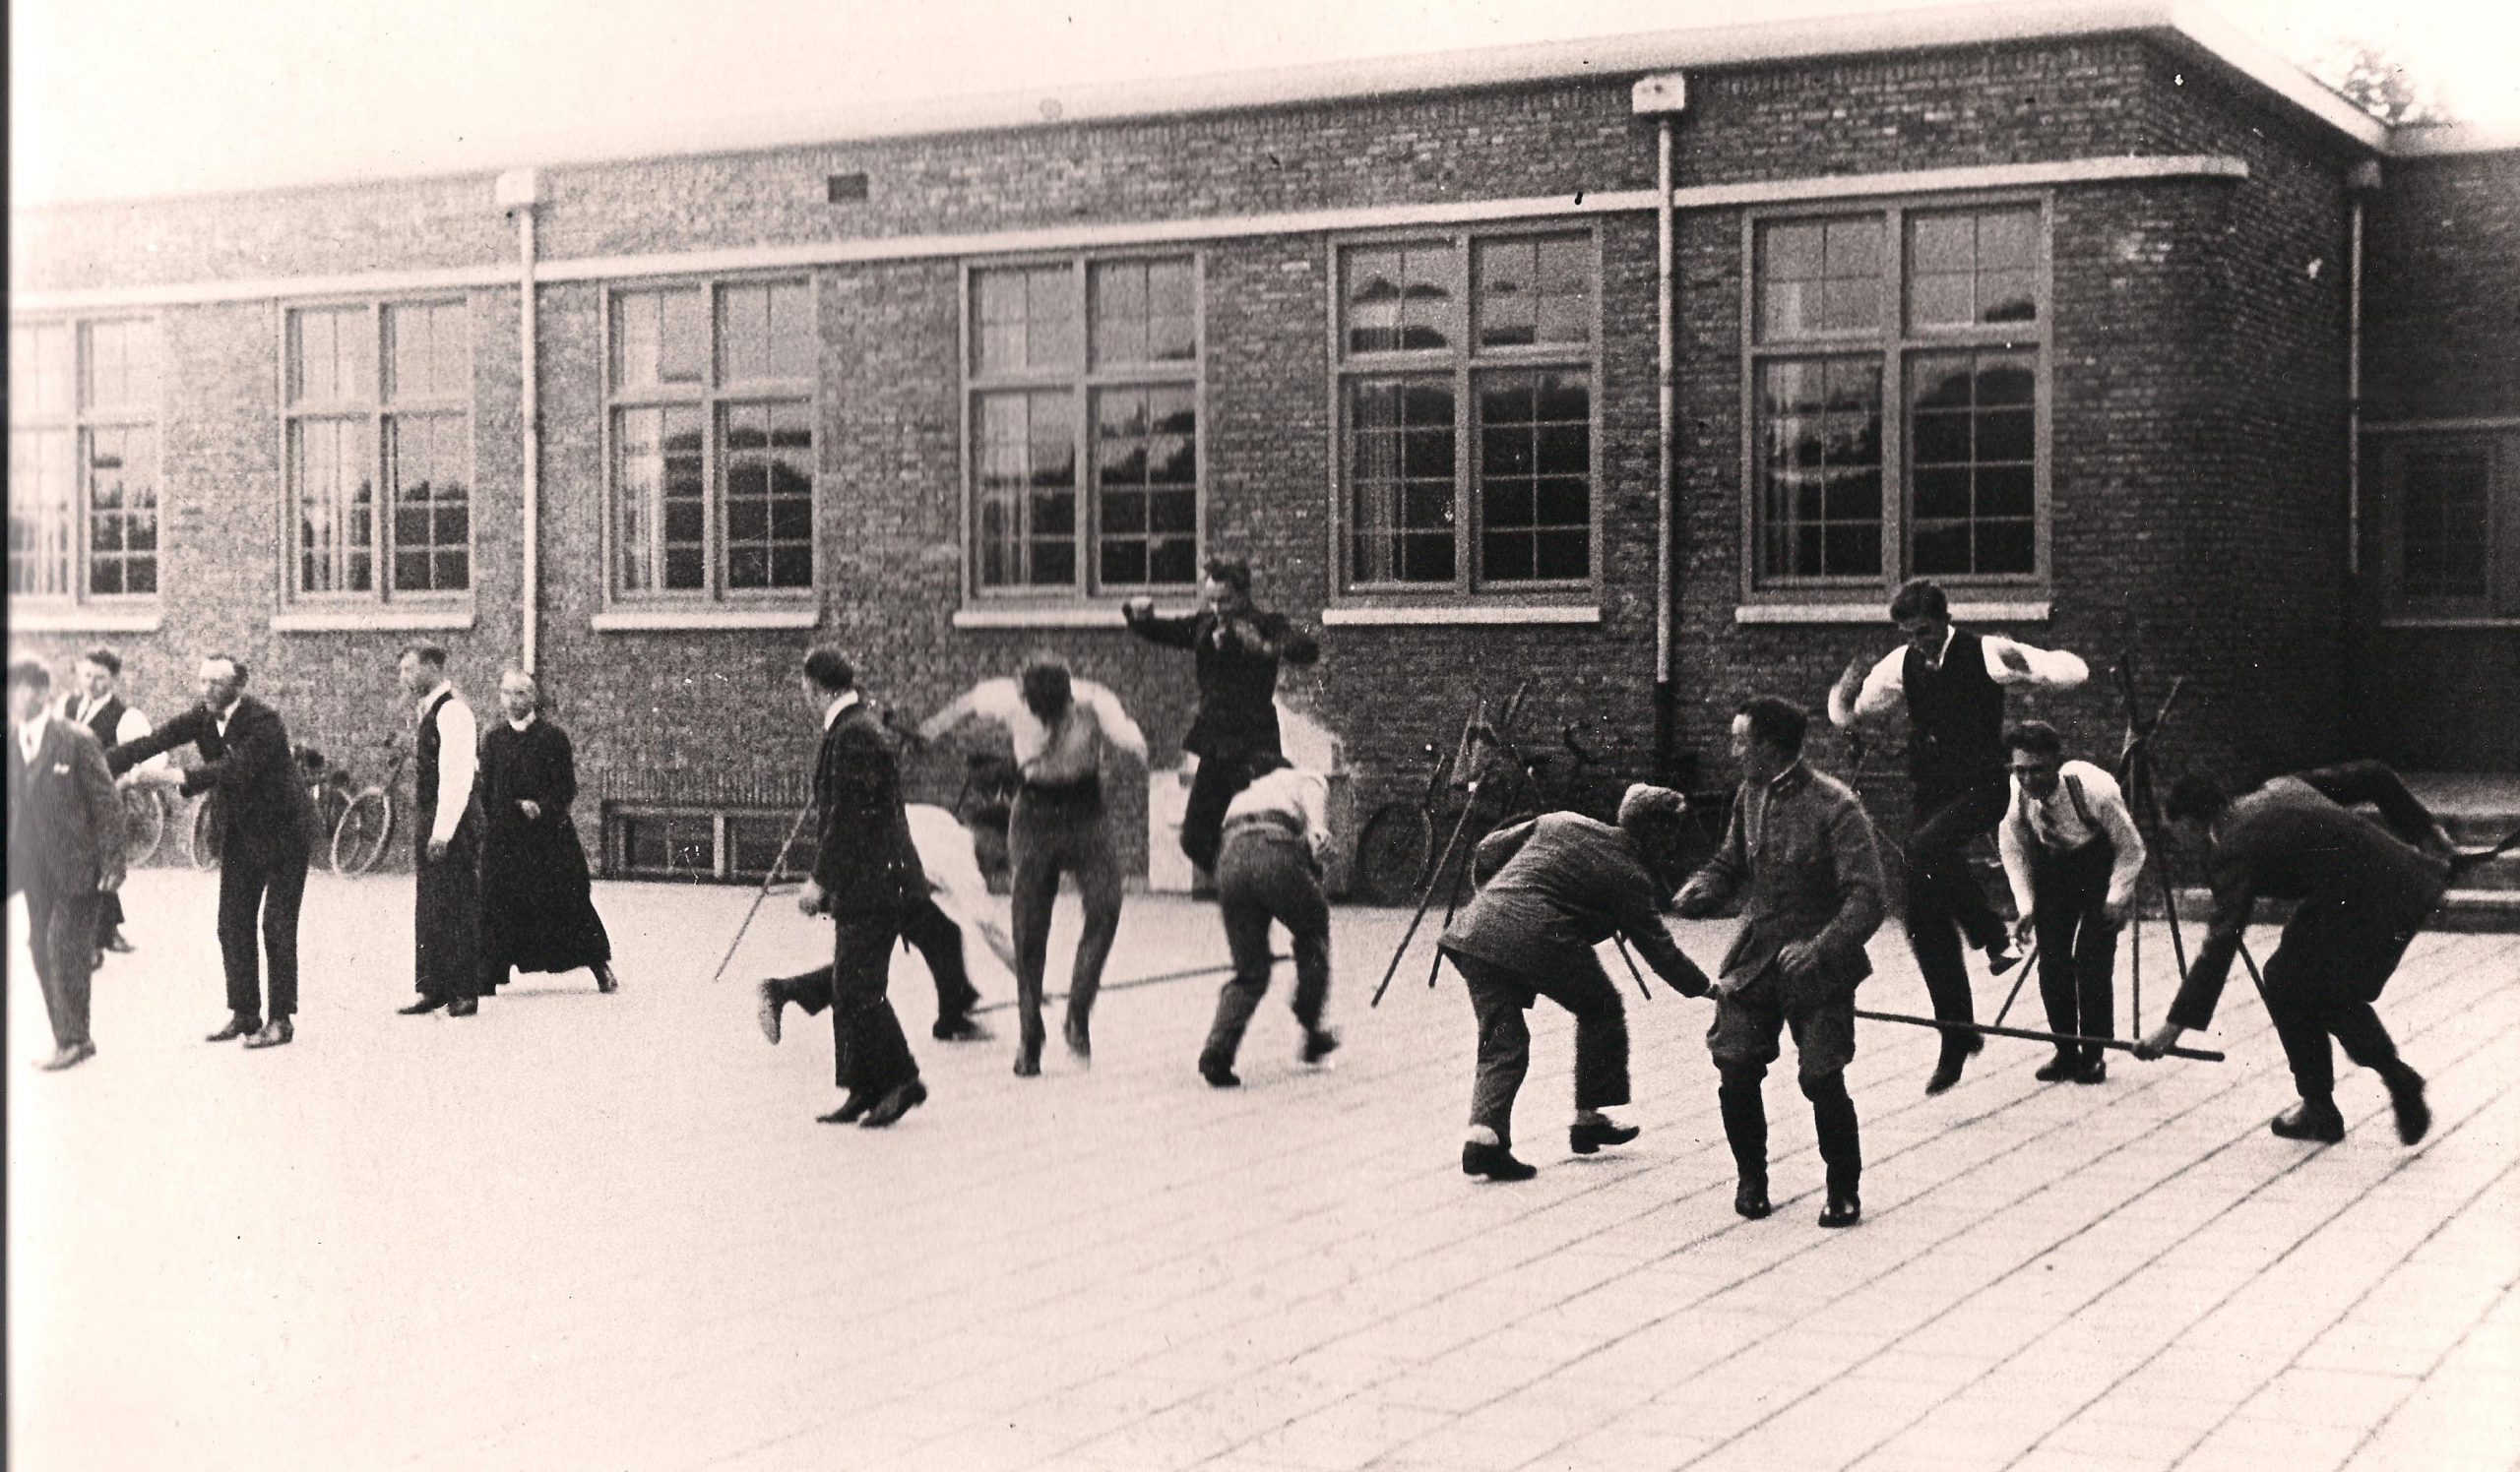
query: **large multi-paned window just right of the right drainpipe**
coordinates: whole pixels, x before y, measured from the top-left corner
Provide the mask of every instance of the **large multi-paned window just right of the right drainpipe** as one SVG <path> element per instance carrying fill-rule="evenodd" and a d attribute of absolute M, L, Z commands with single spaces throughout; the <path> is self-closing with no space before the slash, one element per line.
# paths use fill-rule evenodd
<path fill-rule="evenodd" d="M 2044 580 L 2041 207 L 1767 217 L 1749 255 L 1751 587 Z"/>

